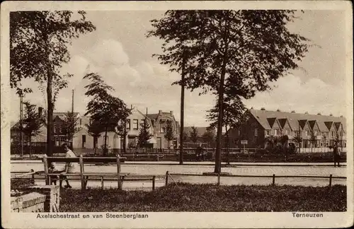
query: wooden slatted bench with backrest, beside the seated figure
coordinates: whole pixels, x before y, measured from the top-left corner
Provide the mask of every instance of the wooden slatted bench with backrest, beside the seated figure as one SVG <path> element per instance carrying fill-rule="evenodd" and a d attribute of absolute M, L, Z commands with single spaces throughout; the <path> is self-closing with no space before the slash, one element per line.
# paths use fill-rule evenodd
<path fill-rule="evenodd" d="M 50 176 L 55 176 L 55 175 L 64 175 L 64 176 L 70 176 L 70 177 L 80 177 L 81 180 L 81 190 L 86 189 L 87 182 L 89 180 L 89 177 L 103 177 L 103 176 L 108 176 L 108 177 L 116 177 L 116 180 L 118 181 L 118 189 L 122 189 L 122 180 L 125 179 L 126 175 L 123 175 L 120 172 L 120 163 L 125 162 L 124 157 L 120 157 L 120 155 L 117 155 L 117 157 L 83 157 L 80 155 L 80 157 L 76 158 L 64 158 L 64 157 L 47 157 L 47 155 L 43 156 L 43 164 L 44 164 L 44 175 L 45 175 L 45 184 L 50 184 Z M 48 172 L 48 165 L 52 162 L 62 162 L 62 163 L 79 163 L 80 166 L 80 172 L 79 173 L 49 173 Z M 117 165 L 117 173 L 86 173 L 84 164 L 98 164 L 98 163 L 110 163 L 110 164 L 116 164 Z"/>

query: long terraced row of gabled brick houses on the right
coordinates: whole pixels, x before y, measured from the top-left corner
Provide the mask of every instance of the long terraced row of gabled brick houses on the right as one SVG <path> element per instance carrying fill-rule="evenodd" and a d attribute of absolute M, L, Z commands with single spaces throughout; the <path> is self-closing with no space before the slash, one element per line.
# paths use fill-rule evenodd
<path fill-rule="evenodd" d="M 316 141 L 311 141 L 311 136 Z M 229 146 L 241 147 L 241 140 L 247 140 L 246 147 L 264 147 L 267 136 L 287 135 L 289 142 L 294 142 L 295 136 L 302 137 L 301 148 L 321 148 L 333 146 L 338 134 L 340 146 L 346 147 L 346 118 L 333 115 L 308 114 L 255 110 L 246 111 L 246 122 L 239 129 L 229 130 Z"/>

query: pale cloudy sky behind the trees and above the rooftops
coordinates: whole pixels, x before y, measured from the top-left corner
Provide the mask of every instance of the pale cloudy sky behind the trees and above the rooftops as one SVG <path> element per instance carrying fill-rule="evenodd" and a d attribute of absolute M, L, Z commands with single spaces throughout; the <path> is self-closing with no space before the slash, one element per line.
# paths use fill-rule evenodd
<path fill-rule="evenodd" d="M 156 113 L 159 110 L 173 111 L 180 119 L 179 86 L 171 83 L 180 78 L 171 74 L 167 66 L 161 66 L 154 53 L 161 52 L 161 40 L 146 38 L 151 29 L 149 20 L 161 18 L 164 11 L 87 11 L 87 19 L 96 25 L 96 31 L 74 40 L 69 51 L 72 59 L 62 71 L 74 74 L 69 87 L 59 93 L 55 111 L 71 110 L 74 88 L 74 110 L 84 114 L 89 98 L 84 95 L 82 81 L 88 71 L 96 71 L 110 86 L 115 95 L 130 107 Z M 247 107 L 316 114 L 346 114 L 346 47 L 345 16 L 342 11 L 305 11 L 290 29 L 308 37 L 320 47 L 311 47 L 307 57 L 299 64 L 301 69 L 280 78 L 275 88 L 258 93 L 245 101 Z M 88 69 L 89 66 L 89 69 Z M 46 107 L 45 94 L 37 89 L 38 84 L 26 81 L 35 88 L 27 95 L 36 105 Z M 11 93 L 11 121 L 18 120 L 19 98 Z M 212 95 L 199 96 L 185 91 L 185 126 L 207 126 L 206 111 L 215 104 Z"/>

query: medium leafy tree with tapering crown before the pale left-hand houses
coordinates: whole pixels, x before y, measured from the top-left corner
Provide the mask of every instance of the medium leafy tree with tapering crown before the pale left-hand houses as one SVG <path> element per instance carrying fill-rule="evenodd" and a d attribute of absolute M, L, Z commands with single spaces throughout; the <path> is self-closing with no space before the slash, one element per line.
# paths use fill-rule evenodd
<path fill-rule="evenodd" d="M 96 73 L 91 73 L 86 74 L 84 78 L 91 81 L 89 85 L 85 86 L 87 89 L 85 95 L 92 97 L 91 101 L 87 104 L 87 112 L 85 115 L 91 114 L 91 119 L 98 122 L 103 127 L 105 132 L 103 155 L 105 155 L 108 153 L 108 131 L 114 131 L 118 123 L 127 119 L 131 112 L 125 102 L 109 94 L 109 92 L 113 92 L 114 89 L 108 86 L 101 76 Z"/>

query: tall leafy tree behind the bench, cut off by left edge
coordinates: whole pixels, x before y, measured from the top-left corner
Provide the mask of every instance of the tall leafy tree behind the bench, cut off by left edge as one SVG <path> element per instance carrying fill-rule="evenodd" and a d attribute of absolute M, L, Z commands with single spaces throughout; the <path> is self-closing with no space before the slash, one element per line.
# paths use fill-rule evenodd
<path fill-rule="evenodd" d="M 47 155 L 52 155 L 53 110 L 55 98 L 67 86 L 72 74 L 59 74 L 62 64 L 69 62 L 68 45 L 80 34 L 95 30 L 86 20 L 72 19 L 72 11 L 14 11 L 10 13 L 10 86 L 18 93 L 23 78 L 33 78 L 45 85 L 47 92 Z"/>

